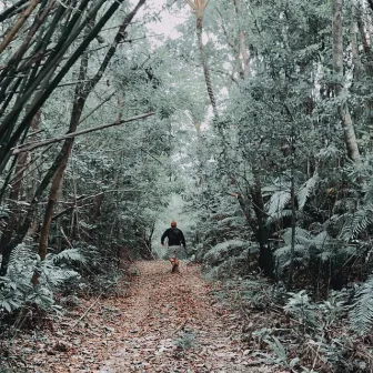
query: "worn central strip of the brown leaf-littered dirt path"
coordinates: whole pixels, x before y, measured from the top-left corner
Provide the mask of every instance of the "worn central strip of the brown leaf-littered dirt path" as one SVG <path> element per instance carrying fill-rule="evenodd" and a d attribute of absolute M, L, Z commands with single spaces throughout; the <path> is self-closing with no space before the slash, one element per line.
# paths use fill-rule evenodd
<path fill-rule="evenodd" d="M 235 315 L 213 302 L 198 266 L 181 265 L 181 274 L 163 261 L 135 266 L 118 350 L 95 372 L 270 372 L 250 366 Z"/>

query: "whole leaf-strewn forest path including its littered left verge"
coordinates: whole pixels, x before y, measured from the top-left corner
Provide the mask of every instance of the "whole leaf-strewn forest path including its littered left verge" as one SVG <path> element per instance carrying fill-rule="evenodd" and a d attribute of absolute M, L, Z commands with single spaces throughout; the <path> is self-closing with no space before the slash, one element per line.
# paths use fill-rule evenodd
<path fill-rule="evenodd" d="M 271 372 L 253 364 L 239 317 L 214 302 L 198 266 L 182 264 L 181 274 L 163 261 L 135 266 L 128 296 L 102 299 L 79 324 L 82 310 L 30 341 L 27 372 Z"/>

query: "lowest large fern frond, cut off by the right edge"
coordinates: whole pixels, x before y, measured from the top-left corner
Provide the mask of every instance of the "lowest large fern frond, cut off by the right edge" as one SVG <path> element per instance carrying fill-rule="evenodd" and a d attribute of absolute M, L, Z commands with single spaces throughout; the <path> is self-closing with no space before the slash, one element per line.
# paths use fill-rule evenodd
<path fill-rule="evenodd" d="M 352 329 L 361 335 L 367 334 L 373 325 L 373 276 L 360 288 L 350 311 Z"/>

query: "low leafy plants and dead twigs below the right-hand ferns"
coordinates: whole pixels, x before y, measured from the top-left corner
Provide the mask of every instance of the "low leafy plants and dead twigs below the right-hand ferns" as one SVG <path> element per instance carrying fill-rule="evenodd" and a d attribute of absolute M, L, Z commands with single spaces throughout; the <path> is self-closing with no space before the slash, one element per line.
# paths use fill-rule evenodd
<path fill-rule="evenodd" d="M 372 371 L 372 340 L 355 332 L 353 290 L 314 301 L 304 290 L 288 293 L 253 275 L 212 286 L 216 299 L 241 315 L 242 341 L 258 365 L 304 373 Z"/>

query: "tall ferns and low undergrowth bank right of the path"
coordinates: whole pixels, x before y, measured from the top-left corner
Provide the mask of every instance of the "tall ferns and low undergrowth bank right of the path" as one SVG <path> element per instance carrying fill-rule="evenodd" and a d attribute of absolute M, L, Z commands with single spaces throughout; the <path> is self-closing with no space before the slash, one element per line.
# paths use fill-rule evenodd
<path fill-rule="evenodd" d="M 236 201 L 221 194 L 224 203 L 201 214 L 205 240 L 196 259 L 215 295 L 242 315 L 242 339 L 258 363 L 292 372 L 372 371 L 370 168 L 366 161 L 349 173 L 346 165 L 337 182 L 324 174 L 306 181 L 293 228 L 289 184 L 263 186 L 271 276 L 261 271 L 255 231 Z"/>

